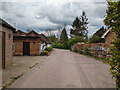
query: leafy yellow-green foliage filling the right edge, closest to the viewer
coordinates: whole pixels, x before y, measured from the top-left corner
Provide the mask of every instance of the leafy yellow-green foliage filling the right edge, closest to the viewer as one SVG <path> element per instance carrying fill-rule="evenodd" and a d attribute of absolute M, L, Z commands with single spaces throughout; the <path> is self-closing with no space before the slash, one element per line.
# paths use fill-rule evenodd
<path fill-rule="evenodd" d="M 111 48 L 110 71 L 116 79 L 116 88 L 120 90 L 120 1 L 108 2 L 105 25 L 116 33 L 116 39 Z"/>

